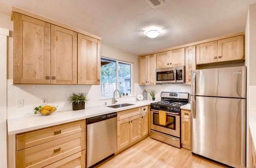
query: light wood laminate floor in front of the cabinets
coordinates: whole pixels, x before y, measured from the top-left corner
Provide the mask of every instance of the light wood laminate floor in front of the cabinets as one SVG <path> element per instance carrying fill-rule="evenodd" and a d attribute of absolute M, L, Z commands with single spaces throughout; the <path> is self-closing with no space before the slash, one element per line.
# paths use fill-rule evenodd
<path fill-rule="evenodd" d="M 97 168 L 221 168 L 216 163 L 203 160 L 186 149 L 146 138 L 124 152 L 112 157 Z M 95 168 L 96 168 L 95 167 Z"/>

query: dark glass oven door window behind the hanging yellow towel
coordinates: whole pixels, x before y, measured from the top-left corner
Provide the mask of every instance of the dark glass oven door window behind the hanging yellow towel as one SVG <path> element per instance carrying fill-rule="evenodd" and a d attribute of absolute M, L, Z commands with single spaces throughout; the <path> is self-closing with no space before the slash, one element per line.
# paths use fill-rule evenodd
<path fill-rule="evenodd" d="M 165 128 L 176 130 L 176 117 L 173 115 L 166 114 L 166 125 L 159 124 L 159 113 L 153 113 L 153 124 L 156 126 L 162 126 Z"/>

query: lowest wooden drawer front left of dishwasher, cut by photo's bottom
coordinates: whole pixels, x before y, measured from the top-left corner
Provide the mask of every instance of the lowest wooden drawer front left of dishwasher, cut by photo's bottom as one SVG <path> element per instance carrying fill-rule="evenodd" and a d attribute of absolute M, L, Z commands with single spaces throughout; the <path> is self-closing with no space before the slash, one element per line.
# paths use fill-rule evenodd
<path fill-rule="evenodd" d="M 85 150 L 45 166 L 44 168 L 85 168 Z"/>

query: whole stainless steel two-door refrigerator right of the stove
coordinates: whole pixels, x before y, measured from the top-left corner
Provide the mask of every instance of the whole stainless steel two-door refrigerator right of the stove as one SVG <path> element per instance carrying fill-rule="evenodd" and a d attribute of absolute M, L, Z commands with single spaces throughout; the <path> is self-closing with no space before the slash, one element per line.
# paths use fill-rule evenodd
<path fill-rule="evenodd" d="M 246 67 L 191 74 L 192 153 L 245 167 Z"/>

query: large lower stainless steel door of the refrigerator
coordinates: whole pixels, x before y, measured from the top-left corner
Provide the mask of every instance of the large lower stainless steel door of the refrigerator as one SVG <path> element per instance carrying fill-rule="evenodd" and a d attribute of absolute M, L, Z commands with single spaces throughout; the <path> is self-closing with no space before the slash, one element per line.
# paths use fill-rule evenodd
<path fill-rule="evenodd" d="M 246 99 L 191 97 L 192 152 L 245 167 Z"/>

